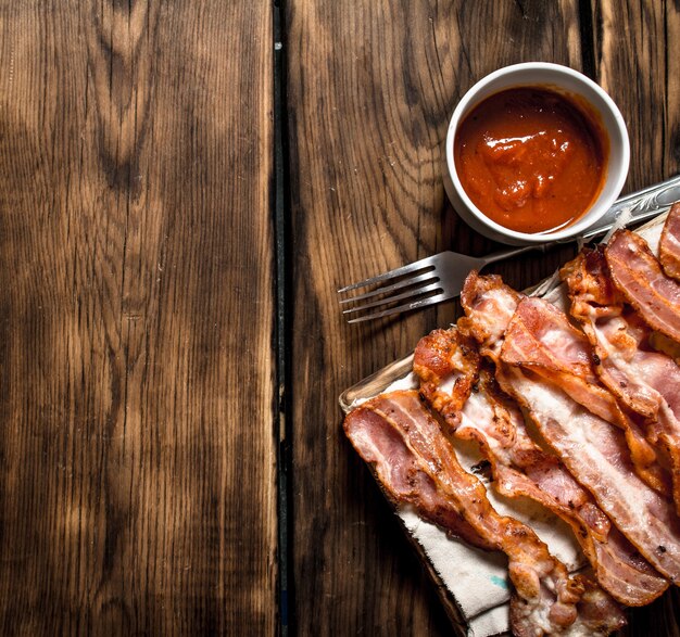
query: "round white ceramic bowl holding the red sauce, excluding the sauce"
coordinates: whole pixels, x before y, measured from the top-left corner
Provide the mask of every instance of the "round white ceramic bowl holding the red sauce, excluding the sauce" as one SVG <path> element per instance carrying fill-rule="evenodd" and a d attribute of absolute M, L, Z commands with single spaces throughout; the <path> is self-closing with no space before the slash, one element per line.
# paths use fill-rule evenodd
<path fill-rule="evenodd" d="M 477 104 L 504 89 L 531 86 L 574 94 L 584 100 L 599 116 L 609 146 L 604 184 L 590 208 L 565 228 L 536 234 L 509 230 L 487 217 L 465 192 L 456 171 L 453 152 L 458 126 Z M 630 163 L 630 144 L 621 113 L 612 98 L 594 81 L 567 66 L 546 62 L 527 62 L 495 71 L 465 93 L 449 125 L 445 156 L 444 187 L 458 215 L 489 239 L 511 245 L 527 245 L 574 239 L 597 221 L 609 209 L 624 188 Z"/>

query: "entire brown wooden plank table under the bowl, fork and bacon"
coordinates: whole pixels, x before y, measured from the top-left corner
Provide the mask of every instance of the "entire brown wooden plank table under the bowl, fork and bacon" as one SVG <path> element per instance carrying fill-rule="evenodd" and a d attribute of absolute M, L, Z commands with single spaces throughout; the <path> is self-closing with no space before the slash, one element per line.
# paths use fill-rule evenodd
<path fill-rule="evenodd" d="M 450 634 L 337 397 L 459 308 L 348 326 L 335 290 L 496 247 L 440 169 L 500 66 L 608 90 L 626 191 L 677 173 L 677 2 L 0 7 L 2 634 Z M 678 635 L 677 590 L 626 634 Z"/>

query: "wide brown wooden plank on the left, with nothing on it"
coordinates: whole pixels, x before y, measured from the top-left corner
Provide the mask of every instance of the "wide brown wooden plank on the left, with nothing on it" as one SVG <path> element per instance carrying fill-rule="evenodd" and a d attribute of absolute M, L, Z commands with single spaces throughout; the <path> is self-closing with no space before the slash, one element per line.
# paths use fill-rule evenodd
<path fill-rule="evenodd" d="M 0 630 L 272 635 L 268 2 L 3 2 Z"/>

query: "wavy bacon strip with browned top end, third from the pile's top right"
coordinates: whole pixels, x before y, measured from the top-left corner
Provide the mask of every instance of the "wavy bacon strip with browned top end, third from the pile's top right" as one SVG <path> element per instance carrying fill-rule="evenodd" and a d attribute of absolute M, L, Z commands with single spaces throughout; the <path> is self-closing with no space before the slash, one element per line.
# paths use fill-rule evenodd
<path fill-rule="evenodd" d="M 601 249 L 583 251 L 561 273 L 569 290 L 570 314 L 594 349 L 597 375 L 622 405 L 642 417 L 653 454 L 658 451 L 670 468 L 680 512 L 680 367 L 652 346 L 652 330 L 612 284 Z M 658 476 L 657 487 L 668 493 Z"/>

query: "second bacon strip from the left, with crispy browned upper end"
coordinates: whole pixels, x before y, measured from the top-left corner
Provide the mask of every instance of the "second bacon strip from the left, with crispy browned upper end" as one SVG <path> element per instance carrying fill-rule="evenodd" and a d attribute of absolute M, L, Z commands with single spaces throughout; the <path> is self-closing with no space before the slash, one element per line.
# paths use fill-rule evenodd
<path fill-rule="evenodd" d="M 666 590 L 667 581 L 612 526 L 590 493 L 530 437 L 519 408 L 501 395 L 455 327 L 418 342 L 414 371 L 420 394 L 450 432 L 479 445 L 501 495 L 531 498 L 569 524 L 605 590 L 627 606 L 650 603 Z"/>

